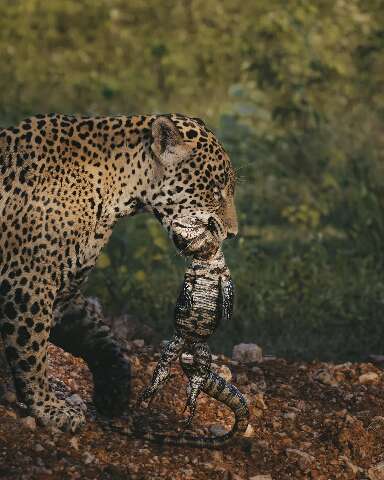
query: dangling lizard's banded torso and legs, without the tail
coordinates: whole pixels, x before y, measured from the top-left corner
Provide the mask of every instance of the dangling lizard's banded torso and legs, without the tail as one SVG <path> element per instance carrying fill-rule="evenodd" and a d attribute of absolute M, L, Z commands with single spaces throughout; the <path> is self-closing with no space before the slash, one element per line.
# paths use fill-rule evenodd
<path fill-rule="evenodd" d="M 211 352 L 206 343 L 223 318 L 229 318 L 233 306 L 233 285 L 224 255 L 218 250 L 208 259 L 194 258 L 184 276 L 184 283 L 175 308 L 175 332 L 161 352 L 151 384 L 142 392 L 139 402 L 152 400 L 169 379 L 169 368 L 183 352 L 194 358 L 194 371 L 189 377 L 186 408 L 190 425 L 197 397 L 211 367 Z"/>

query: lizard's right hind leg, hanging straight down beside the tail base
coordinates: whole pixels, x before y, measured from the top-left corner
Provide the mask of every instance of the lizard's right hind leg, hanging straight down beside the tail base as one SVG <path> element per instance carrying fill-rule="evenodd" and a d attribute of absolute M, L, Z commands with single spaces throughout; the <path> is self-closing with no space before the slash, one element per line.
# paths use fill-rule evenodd
<path fill-rule="evenodd" d="M 190 352 L 193 355 L 193 373 L 188 377 L 188 397 L 185 404 L 185 410 L 189 410 L 188 417 L 185 421 L 185 428 L 188 428 L 195 416 L 197 398 L 201 389 L 207 381 L 211 370 L 212 355 L 206 342 L 196 342 L 193 344 Z"/>

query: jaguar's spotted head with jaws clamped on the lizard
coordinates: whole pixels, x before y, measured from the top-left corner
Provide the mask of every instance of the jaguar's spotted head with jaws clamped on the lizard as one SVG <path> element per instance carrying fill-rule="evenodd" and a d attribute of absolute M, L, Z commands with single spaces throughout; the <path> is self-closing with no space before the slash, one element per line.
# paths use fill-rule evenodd
<path fill-rule="evenodd" d="M 159 116 L 151 128 L 157 188 L 150 209 L 179 251 L 210 256 L 238 230 L 231 161 L 200 119 Z"/>

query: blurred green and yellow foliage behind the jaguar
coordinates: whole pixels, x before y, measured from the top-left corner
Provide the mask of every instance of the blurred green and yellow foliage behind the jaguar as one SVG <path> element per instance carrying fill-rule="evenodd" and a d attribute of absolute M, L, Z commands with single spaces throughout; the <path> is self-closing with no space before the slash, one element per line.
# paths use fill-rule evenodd
<path fill-rule="evenodd" d="M 234 318 L 213 341 L 288 357 L 384 349 L 383 0 L 1 0 L 0 121 L 204 118 L 238 172 Z M 185 268 L 123 220 L 88 291 L 169 334 Z"/>

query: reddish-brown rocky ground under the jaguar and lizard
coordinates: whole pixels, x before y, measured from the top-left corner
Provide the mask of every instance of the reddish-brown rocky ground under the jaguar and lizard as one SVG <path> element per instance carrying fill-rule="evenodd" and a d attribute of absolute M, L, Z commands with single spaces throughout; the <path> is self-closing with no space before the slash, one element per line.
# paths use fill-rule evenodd
<path fill-rule="evenodd" d="M 132 405 L 157 355 L 129 343 L 134 370 Z M 109 422 L 96 415 L 85 364 L 50 346 L 51 375 L 73 401 L 80 395 L 87 425 L 76 435 L 36 426 L 0 377 L 0 478 L 7 479 L 384 479 L 384 372 L 371 363 L 334 365 L 264 358 L 242 363 L 219 356 L 215 368 L 249 399 L 247 438 L 221 451 L 160 447 L 132 436 L 132 420 L 174 432 L 185 401 L 185 380 L 174 378 L 150 411 Z M 194 430 L 229 429 L 229 412 L 204 395 Z M 123 427 L 126 435 L 110 430 Z"/>

